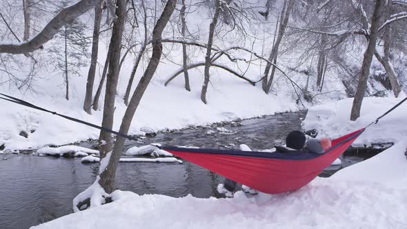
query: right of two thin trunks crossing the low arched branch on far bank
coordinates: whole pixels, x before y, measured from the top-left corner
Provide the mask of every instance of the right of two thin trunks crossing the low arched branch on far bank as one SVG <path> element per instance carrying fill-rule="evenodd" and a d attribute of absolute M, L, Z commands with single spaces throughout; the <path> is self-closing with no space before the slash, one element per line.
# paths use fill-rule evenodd
<path fill-rule="evenodd" d="M 212 22 L 209 26 L 209 37 L 208 37 L 208 47 L 206 48 L 205 56 L 205 79 L 203 80 L 203 86 L 201 91 L 201 101 L 206 104 L 206 91 L 208 90 L 209 83 L 209 68 L 210 68 L 210 52 L 212 51 L 213 34 L 215 34 L 215 27 L 217 24 L 217 19 L 220 13 L 220 0 L 215 0 L 215 14 L 213 15 Z"/>

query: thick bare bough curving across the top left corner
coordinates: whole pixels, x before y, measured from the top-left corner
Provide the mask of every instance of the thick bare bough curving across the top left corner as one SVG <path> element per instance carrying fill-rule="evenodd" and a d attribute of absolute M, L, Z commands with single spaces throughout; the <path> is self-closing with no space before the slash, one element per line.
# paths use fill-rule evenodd
<path fill-rule="evenodd" d="M 57 34 L 62 26 L 93 8 L 95 2 L 96 0 L 81 0 L 63 8 L 63 10 L 61 10 L 37 36 L 32 37 L 32 39 L 19 43 L 0 42 L 0 53 L 23 54 L 41 48 L 44 43 L 50 41 L 50 39 Z"/>

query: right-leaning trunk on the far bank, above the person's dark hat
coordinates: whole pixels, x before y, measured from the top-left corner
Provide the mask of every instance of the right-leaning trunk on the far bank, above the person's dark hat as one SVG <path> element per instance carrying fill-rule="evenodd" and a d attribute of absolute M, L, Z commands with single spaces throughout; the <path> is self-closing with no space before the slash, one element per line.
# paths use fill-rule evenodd
<path fill-rule="evenodd" d="M 271 61 L 272 63 L 277 63 L 277 55 L 279 52 L 279 46 L 280 46 L 281 40 L 284 37 L 284 32 L 286 31 L 286 28 L 287 28 L 288 19 L 290 19 L 291 6 L 292 6 L 292 0 L 284 1 L 284 6 L 283 6 L 283 9 L 281 10 L 281 17 L 280 17 L 281 23 L 279 25 L 279 33 L 277 35 L 277 39 L 276 39 L 274 45 L 272 46 L 270 57 L 268 58 L 269 61 Z M 272 78 L 274 78 L 274 75 L 272 75 L 270 77 L 270 80 L 268 79 L 268 72 L 270 72 L 271 66 L 272 65 L 270 63 L 266 64 L 266 68 L 264 69 L 264 76 L 263 76 L 264 79 L 261 84 L 261 86 L 262 86 L 264 92 L 266 92 L 266 94 L 268 94 L 268 92 L 270 91 L 270 88 L 271 88 L 271 83 L 269 81 L 272 81 Z M 273 66 L 273 68 L 275 68 L 275 67 Z"/>

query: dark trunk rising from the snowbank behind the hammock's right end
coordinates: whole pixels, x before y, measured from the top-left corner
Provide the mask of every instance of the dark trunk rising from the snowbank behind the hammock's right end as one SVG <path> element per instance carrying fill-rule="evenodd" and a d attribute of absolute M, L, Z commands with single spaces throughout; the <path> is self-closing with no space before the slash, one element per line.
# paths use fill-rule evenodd
<path fill-rule="evenodd" d="M 385 0 L 376 0 L 375 12 L 373 12 L 372 26 L 370 26 L 370 39 L 368 42 L 368 48 L 364 53 L 364 60 L 361 66 L 361 74 L 359 76 L 359 83 L 357 85 L 357 91 L 355 99 L 353 99 L 352 111 L 350 112 L 350 120 L 355 121 L 360 116 L 361 103 L 364 99 L 366 91 L 366 84 L 368 82 L 370 74 L 370 64 L 372 63 L 373 54 L 376 50 L 377 29 L 379 28 L 379 21 L 381 11 L 384 8 Z"/>

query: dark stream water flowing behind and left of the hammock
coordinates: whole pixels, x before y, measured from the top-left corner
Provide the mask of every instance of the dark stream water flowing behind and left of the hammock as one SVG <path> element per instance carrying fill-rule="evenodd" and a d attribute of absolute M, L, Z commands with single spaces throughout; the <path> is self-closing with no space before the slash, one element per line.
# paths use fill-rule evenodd
<path fill-rule="evenodd" d="M 299 130 L 305 112 L 284 113 L 241 121 L 242 126 L 211 126 L 160 133 L 140 141 L 127 141 L 126 148 L 158 142 L 168 146 L 239 148 L 253 150 L 280 145 L 288 132 Z M 231 132 L 219 129 L 226 128 Z M 94 142 L 93 142 L 94 143 Z M 92 146 L 83 142 L 80 146 Z M 341 168 L 333 168 L 334 172 Z M 81 163 L 79 158 L 0 155 L 0 228 L 30 228 L 68 215 L 72 199 L 95 181 L 98 163 Z M 324 177 L 332 174 L 328 172 Z M 217 184 L 223 180 L 208 170 L 184 163 L 120 163 L 117 188 L 139 195 L 152 193 L 171 197 L 221 197 Z"/>

